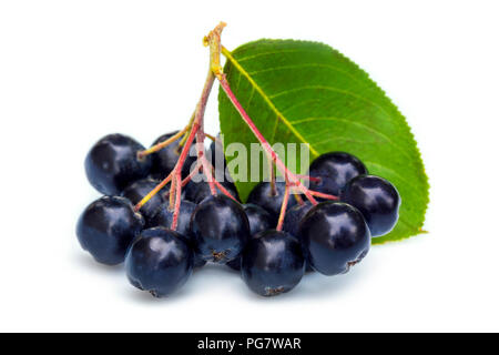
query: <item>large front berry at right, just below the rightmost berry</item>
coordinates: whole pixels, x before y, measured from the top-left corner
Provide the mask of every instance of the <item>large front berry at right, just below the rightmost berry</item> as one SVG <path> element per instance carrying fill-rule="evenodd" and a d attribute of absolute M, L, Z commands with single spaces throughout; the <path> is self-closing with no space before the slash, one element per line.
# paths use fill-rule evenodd
<path fill-rule="evenodd" d="M 342 202 L 314 206 L 299 224 L 310 266 L 325 275 L 338 275 L 360 262 L 369 251 L 370 233 L 361 213 Z"/>

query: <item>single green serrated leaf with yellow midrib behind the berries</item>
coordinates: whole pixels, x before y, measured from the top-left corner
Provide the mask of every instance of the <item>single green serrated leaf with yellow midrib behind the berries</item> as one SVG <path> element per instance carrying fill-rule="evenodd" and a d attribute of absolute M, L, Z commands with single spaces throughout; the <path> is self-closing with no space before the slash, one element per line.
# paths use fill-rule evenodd
<path fill-rule="evenodd" d="M 366 72 L 316 42 L 258 40 L 225 54 L 232 90 L 271 144 L 307 142 L 310 160 L 346 151 L 397 186 L 403 201 L 399 222 L 374 243 L 422 232 L 429 185 L 416 141 L 405 118 Z M 257 142 L 222 90 L 218 110 L 225 146 Z M 243 201 L 255 184 L 236 182 Z"/>

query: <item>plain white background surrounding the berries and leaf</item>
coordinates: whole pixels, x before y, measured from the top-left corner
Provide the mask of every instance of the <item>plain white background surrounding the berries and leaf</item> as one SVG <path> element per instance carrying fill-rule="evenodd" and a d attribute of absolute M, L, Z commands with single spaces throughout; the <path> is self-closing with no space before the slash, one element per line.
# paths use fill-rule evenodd
<path fill-rule="evenodd" d="M 2 1 L 0 331 L 499 331 L 496 1 Z M 224 267 L 169 300 L 80 250 L 99 194 L 83 159 L 123 132 L 183 126 L 220 20 L 249 40 L 326 42 L 407 116 L 430 179 L 428 234 L 375 246 L 348 275 L 263 300 Z M 207 131 L 217 132 L 216 92 Z"/>

